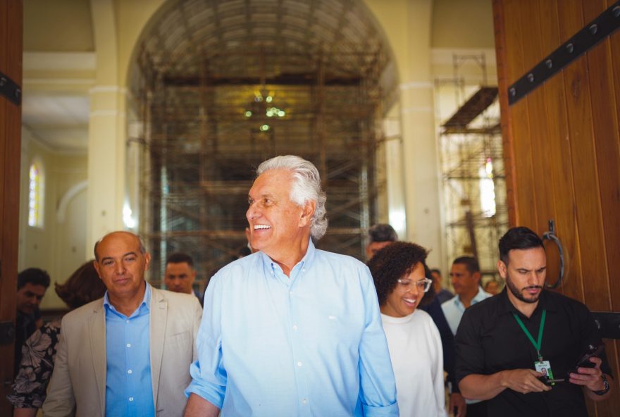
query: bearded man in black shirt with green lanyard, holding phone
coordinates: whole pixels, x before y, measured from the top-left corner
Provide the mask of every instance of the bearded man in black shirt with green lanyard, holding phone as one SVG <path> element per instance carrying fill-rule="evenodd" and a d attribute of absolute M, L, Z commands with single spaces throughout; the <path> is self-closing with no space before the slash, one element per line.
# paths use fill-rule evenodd
<path fill-rule="evenodd" d="M 590 359 L 593 368 L 574 372 L 600 337 L 586 306 L 544 290 L 546 266 L 540 237 L 512 228 L 500 239 L 497 262 L 506 288 L 461 319 L 457 381 L 464 397 L 489 400 L 489 416 L 588 416 L 584 394 L 594 401 L 609 397 L 605 353 Z M 541 382 L 543 369 L 564 381 Z"/>

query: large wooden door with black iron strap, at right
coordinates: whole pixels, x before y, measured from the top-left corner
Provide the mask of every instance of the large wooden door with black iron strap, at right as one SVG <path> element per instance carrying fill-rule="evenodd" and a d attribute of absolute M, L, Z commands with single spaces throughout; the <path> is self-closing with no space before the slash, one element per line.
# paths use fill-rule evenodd
<path fill-rule="evenodd" d="M 512 106 L 508 89 L 615 2 L 493 0 L 509 220 L 539 235 L 555 221 L 567 255 L 558 290 L 592 311 L 620 311 L 620 30 Z M 620 410 L 620 344 L 606 347 L 614 395 L 590 402 L 590 416 Z"/>

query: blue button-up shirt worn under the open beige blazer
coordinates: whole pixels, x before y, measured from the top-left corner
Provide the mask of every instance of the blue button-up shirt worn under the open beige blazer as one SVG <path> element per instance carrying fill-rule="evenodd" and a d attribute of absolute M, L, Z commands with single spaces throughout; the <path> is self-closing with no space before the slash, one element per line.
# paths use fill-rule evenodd
<path fill-rule="evenodd" d="M 106 309 L 106 416 L 154 416 L 147 284 L 142 304 L 127 317 L 104 295 Z"/>

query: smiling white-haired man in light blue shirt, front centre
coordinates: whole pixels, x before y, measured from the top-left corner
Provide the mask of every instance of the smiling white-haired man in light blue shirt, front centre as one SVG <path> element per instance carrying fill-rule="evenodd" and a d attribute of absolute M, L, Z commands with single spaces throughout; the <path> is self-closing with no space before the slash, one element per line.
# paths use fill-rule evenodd
<path fill-rule="evenodd" d="M 246 216 L 256 253 L 211 280 L 185 416 L 397 416 L 368 268 L 315 249 L 327 229 L 316 167 L 261 163 Z"/>

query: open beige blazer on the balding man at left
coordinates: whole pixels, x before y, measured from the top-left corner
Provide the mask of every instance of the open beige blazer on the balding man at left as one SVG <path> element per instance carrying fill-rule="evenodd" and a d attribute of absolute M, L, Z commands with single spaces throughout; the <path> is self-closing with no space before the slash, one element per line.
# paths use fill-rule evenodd
<path fill-rule="evenodd" d="M 148 284 L 147 284 L 148 285 Z M 181 416 L 196 360 L 202 308 L 193 294 L 151 287 L 149 343 L 156 416 Z M 43 404 L 49 417 L 105 417 L 106 312 L 103 299 L 63 317 L 54 373 Z"/>

